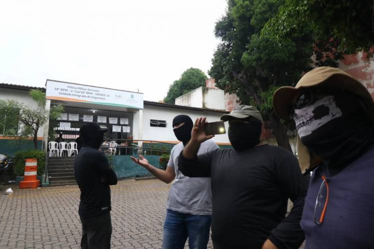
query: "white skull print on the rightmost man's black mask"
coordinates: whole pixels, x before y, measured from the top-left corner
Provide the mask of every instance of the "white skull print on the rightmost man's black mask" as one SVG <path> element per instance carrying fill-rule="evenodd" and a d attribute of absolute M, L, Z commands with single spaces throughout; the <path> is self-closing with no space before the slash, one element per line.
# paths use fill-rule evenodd
<path fill-rule="evenodd" d="M 293 119 L 300 138 L 312 132 L 333 119 L 342 116 L 342 111 L 336 106 L 334 96 L 324 97 L 303 109 L 296 109 Z"/>

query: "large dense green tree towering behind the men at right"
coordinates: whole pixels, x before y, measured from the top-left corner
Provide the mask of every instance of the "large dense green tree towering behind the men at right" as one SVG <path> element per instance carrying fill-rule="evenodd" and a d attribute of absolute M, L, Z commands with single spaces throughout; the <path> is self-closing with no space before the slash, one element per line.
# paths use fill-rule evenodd
<path fill-rule="evenodd" d="M 215 35 L 221 42 L 209 75 L 243 104 L 256 106 L 278 144 L 290 149 L 287 124 L 271 108 L 272 94 L 294 86 L 314 66 L 337 67 L 345 53 L 370 52 L 373 1 L 228 0 Z"/>

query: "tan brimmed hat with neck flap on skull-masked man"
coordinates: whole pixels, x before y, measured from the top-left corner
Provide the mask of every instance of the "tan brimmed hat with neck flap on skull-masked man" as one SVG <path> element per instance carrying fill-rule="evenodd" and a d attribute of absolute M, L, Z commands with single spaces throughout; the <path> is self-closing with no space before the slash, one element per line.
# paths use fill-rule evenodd
<path fill-rule="evenodd" d="M 290 120 L 293 100 L 308 88 L 321 87 L 332 90 L 344 90 L 357 95 L 364 104 L 366 112 L 374 121 L 374 102 L 366 87 L 348 73 L 333 67 L 317 67 L 306 73 L 295 87 L 280 87 L 273 95 L 273 108 L 275 114 L 283 119 Z M 299 164 L 303 172 L 310 171 L 322 160 L 297 138 Z"/>

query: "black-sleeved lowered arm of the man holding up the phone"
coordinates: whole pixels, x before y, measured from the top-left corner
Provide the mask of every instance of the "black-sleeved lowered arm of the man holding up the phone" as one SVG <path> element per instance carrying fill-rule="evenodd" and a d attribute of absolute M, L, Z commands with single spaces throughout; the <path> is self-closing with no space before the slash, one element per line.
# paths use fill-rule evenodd
<path fill-rule="evenodd" d="M 293 202 L 290 214 L 271 232 L 269 240 L 278 248 L 299 248 L 305 236 L 300 227 L 309 175 L 303 176 L 296 157 L 286 156 L 277 167 L 280 186 Z"/>

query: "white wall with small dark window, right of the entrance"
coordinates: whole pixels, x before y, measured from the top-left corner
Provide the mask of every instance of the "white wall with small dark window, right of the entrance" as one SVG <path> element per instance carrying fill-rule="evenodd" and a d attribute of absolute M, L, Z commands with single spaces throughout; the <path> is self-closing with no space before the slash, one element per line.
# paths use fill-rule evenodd
<path fill-rule="evenodd" d="M 177 115 L 188 115 L 192 121 L 198 117 L 206 117 L 208 122 L 219 121 L 224 113 L 211 112 L 211 111 L 193 111 L 187 109 L 176 109 L 163 106 L 152 106 L 144 104 L 143 110 L 143 139 L 156 140 L 156 141 L 178 141 L 173 132 L 173 119 Z M 150 120 L 165 120 L 166 127 L 152 127 Z M 135 118 L 134 118 L 135 121 Z M 134 128 L 136 124 L 134 123 Z M 229 143 L 227 130 L 228 123 L 225 122 L 226 134 L 216 135 L 212 139 L 217 143 Z M 136 139 L 134 137 L 134 139 Z"/>

